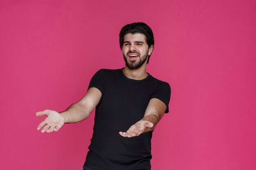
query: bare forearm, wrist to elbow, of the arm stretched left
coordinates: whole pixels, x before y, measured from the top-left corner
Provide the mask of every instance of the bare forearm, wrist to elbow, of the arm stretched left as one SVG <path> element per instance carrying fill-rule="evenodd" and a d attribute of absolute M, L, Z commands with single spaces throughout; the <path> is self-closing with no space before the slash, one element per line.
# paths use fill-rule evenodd
<path fill-rule="evenodd" d="M 92 110 L 77 102 L 60 114 L 65 118 L 65 123 L 75 123 L 88 118 Z"/>

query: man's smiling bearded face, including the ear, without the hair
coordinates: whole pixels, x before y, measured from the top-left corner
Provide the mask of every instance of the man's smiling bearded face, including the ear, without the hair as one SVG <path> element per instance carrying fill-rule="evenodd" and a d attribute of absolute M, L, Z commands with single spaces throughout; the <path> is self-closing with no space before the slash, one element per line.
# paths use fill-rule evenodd
<path fill-rule="evenodd" d="M 153 46 L 148 48 L 146 36 L 141 33 L 124 35 L 123 44 L 124 61 L 130 70 L 140 68 L 151 54 Z"/>

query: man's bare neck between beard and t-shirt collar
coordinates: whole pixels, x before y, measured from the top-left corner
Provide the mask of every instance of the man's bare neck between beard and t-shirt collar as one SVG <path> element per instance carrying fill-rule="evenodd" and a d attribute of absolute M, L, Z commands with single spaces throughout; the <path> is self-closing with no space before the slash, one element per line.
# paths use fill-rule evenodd
<path fill-rule="evenodd" d="M 124 67 L 124 75 L 130 79 L 142 80 L 148 76 L 146 67 L 140 67 L 136 70 L 130 70 L 127 66 Z"/>

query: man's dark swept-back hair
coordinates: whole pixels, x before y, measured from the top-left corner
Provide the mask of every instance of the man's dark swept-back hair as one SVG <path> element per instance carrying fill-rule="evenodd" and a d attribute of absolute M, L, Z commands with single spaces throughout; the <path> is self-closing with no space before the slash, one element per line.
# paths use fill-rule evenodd
<path fill-rule="evenodd" d="M 127 24 L 126 26 L 124 26 L 119 33 L 119 44 L 120 44 L 121 49 L 123 48 L 123 44 L 124 44 L 124 35 L 126 35 L 128 33 L 144 34 L 146 36 L 146 42 L 148 44 L 148 47 L 150 47 L 151 45 L 154 46 L 154 44 L 155 44 L 154 35 L 153 35 L 153 31 L 151 30 L 151 28 L 143 22 L 134 22 L 132 24 Z M 148 61 L 149 61 L 149 57 L 150 57 L 150 55 L 148 55 Z M 147 63 L 148 63 L 148 61 L 147 61 Z"/>

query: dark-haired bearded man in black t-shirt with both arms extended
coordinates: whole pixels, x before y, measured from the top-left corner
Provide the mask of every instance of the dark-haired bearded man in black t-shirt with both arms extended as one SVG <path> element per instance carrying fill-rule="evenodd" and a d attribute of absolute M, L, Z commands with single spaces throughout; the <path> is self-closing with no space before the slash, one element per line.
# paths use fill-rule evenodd
<path fill-rule="evenodd" d="M 141 22 L 127 24 L 119 43 L 124 68 L 99 70 L 85 96 L 66 111 L 36 113 L 47 116 L 37 127 L 43 133 L 84 120 L 96 107 L 84 170 L 150 170 L 152 131 L 168 113 L 170 86 L 146 72 L 154 48 L 151 28 Z"/>

